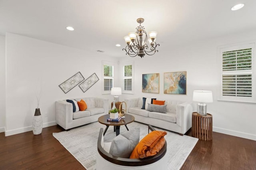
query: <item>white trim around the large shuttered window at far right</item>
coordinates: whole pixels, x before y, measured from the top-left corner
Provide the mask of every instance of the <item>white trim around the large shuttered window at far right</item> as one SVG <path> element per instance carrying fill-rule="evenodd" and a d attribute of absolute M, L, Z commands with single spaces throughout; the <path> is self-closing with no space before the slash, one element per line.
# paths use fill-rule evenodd
<path fill-rule="evenodd" d="M 256 42 L 245 42 L 236 43 L 232 45 L 225 45 L 218 47 L 217 58 L 218 58 L 218 101 L 228 101 L 228 102 L 239 102 L 239 103 L 256 103 L 256 53 L 255 53 Z M 237 96 L 223 96 L 222 95 L 222 52 L 223 51 L 234 51 L 238 49 L 252 48 L 252 69 L 250 70 L 237 70 L 237 74 L 241 73 L 251 73 L 252 74 L 252 97 L 237 97 Z M 229 72 L 227 71 L 226 74 Z M 234 73 L 233 73 L 234 74 Z"/>

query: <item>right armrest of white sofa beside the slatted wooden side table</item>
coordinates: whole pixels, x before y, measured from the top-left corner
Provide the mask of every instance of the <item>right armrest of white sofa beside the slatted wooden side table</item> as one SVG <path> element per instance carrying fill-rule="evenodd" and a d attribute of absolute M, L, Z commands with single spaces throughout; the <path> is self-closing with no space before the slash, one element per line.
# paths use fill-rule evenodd
<path fill-rule="evenodd" d="M 176 123 L 182 128 L 182 134 L 191 128 L 192 124 L 192 105 L 190 103 L 182 103 L 177 105 Z"/>

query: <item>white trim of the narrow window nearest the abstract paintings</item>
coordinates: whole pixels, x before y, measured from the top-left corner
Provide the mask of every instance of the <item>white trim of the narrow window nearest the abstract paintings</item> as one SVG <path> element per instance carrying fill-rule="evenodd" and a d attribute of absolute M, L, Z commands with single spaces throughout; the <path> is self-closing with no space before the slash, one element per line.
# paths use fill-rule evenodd
<path fill-rule="evenodd" d="M 132 76 L 124 77 L 124 66 L 132 65 Z M 124 79 L 132 79 L 132 91 L 124 90 Z M 122 63 L 122 93 L 134 94 L 134 61 Z"/>

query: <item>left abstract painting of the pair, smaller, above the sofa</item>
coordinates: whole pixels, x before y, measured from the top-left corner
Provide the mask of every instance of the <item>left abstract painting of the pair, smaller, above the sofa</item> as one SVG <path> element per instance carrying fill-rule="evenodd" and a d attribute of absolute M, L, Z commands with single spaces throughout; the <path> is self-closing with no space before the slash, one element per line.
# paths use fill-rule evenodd
<path fill-rule="evenodd" d="M 142 92 L 159 93 L 159 73 L 142 74 Z"/>

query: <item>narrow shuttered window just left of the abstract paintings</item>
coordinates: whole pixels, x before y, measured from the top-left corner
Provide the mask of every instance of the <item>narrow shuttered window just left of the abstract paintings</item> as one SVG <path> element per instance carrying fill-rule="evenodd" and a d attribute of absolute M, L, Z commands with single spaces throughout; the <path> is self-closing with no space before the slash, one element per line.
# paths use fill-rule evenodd
<path fill-rule="evenodd" d="M 123 63 L 123 88 L 122 93 L 134 93 L 134 63 L 133 61 Z"/>

